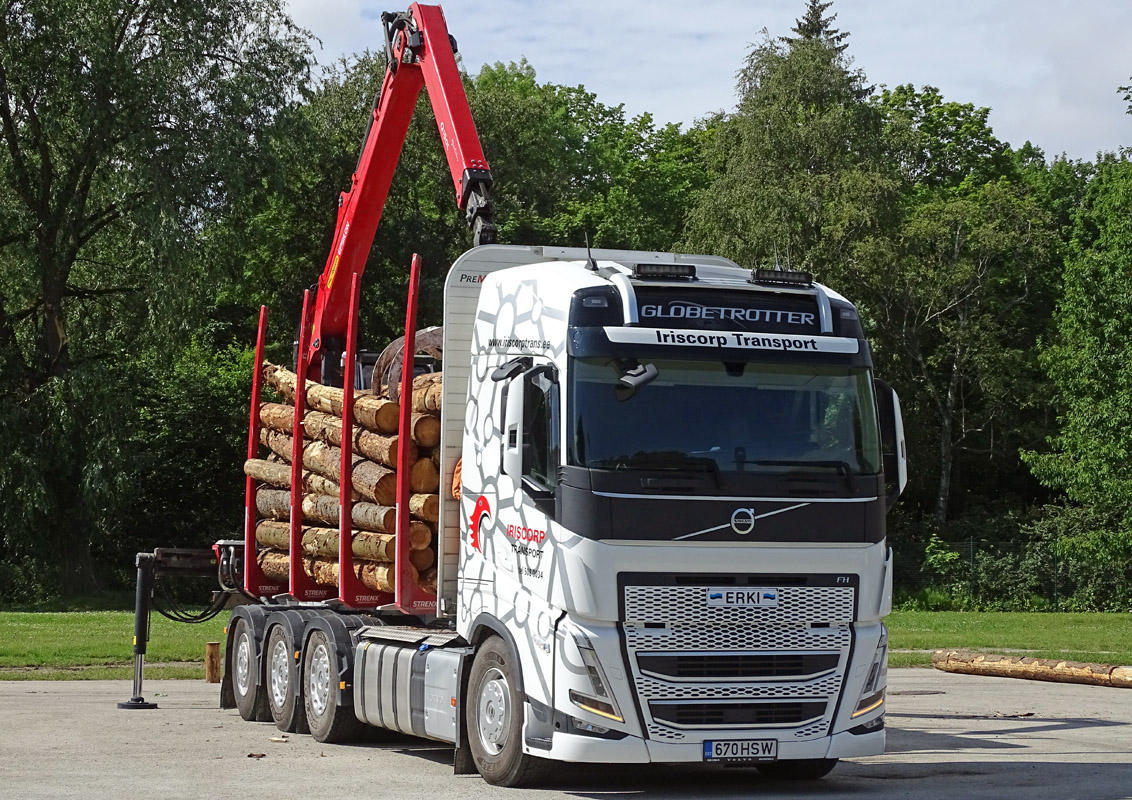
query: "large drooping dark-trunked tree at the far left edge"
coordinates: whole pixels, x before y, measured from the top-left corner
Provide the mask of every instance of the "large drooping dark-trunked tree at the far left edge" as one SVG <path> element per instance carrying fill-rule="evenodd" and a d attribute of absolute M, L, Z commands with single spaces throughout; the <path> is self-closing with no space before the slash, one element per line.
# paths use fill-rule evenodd
<path fill-rule="evenodd" d="M 120 510 L 105 500 L 137 338 L 175 329 L 175 304 L 207 286 L 186 253 L 255 177 L 258 134 L 308 63 L 275 0 L 26 0 L 0 16 L 0 346 L 15 378 L 0 392 L 18 498 L 0 523 L 17 552 L 61 561 L 68 591 L 94 585 L 92 541 Z"/>

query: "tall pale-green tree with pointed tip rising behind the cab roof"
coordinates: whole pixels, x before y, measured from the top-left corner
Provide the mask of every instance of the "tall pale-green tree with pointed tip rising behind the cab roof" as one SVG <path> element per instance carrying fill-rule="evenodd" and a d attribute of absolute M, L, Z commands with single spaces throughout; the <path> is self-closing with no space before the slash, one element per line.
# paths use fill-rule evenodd
<path fill-rule="evenodd" d="M 712 123 L 713 171 L 685 247 L 748 266 L 780 264 L 837 281 L 854 247 L 882 230 L 898 183 L 883 118 L 841 34 L 811 3 L 797 38 L 763 41 L 739 72 L 739 105 Z"/>

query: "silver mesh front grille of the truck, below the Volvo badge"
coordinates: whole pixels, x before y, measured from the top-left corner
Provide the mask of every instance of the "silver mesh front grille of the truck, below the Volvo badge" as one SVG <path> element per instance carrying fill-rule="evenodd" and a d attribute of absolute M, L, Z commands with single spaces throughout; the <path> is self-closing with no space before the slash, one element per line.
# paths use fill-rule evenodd
<path fill-rule="evenodd" d="M 689 577 L 623 588 L 623 630 L 649 737 L 825 736 L 852 642 L 855 587 L 758 578 L 758 586 L 777 590 L 777 607 L 720 608 L 706 604 L 717 577 L 702 584 Z M 746 579 L 736 576 L 735 585 Z"/>

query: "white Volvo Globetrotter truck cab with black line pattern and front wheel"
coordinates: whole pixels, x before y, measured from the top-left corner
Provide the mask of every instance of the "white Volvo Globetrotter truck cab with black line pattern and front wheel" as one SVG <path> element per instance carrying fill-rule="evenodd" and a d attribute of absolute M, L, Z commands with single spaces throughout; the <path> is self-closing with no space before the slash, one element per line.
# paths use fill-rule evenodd
<path fill-rule="evenodd" d="M 480 247 L 444 371 L 439 609 L 504 654 L 465 693 L 481 772 L 883 751 L 903 436 L 844 298 L 709 256 Z"/>

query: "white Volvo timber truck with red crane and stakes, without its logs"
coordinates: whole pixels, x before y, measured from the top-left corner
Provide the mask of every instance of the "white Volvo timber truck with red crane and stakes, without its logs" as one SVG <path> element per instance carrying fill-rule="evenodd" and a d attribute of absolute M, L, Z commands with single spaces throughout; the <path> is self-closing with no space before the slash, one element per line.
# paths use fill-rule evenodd
<path fill-rule="evenodd" d="M 388 72 L 297 372 L 342 386 L 350 430 L 358 276 L 427 85 L 477 244 L 444 289 L 437 588 L 410 579 L 406 478 L 392 593 L 348 569 L 349 445 L 338 587 L 299 564 L 297 488 L 290 580 L 261 573 L 249 478 L 245 539 L 215 548 L 225 588 L 254 601 L 228 627 L 222 705 L 319 741 L 372 725 L 452 742 L 456 772 L 508 786 L 552 762 L 805 779 L 882 752 L 885 514 L 907 470 L 854 306 L 719 257 L 494 243 L 443 14 L 383 19 Z M 260 363 L 263 341 L 261 325 Z"/>

